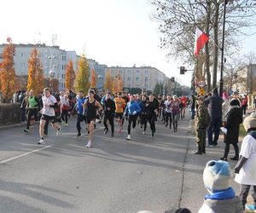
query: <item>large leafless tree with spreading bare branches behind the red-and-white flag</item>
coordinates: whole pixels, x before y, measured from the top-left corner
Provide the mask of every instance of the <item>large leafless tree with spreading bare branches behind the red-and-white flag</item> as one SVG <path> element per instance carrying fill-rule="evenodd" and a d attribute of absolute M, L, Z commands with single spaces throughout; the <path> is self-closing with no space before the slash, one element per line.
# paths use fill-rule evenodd
<path fill-rule="evenodd" d="M 180 59 L 184 64 L 195 64 L 197 62 L 193 54 L 195 26 L 210 35 L 211 42 L 206 44 L 204 52 L 205 70 L 201 71 L 204 72 L 201 76 L 207 75 L 208 89 L 211 89 L 211 80 L 212 87 L 217 84 L 220 51 L 218 43 L 222 42 L 223 3 L 228 3 L 226 5 L 225 55 L 236 51 L 239 45 L 236 42 L 236 36 L 244 34 L 245 28 L 255 25 L 253 18 L 256 5 L 252 0 L 151 0 L 151 2 L 156 7 L 154 19 L 160 22 L 160 32 L 163 33 L 160 46 L 168 49 L 169 57 Z M 197 72 L 200 71 L 197 70 Z"/>

